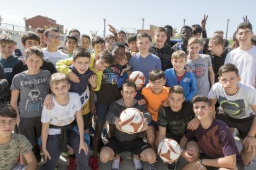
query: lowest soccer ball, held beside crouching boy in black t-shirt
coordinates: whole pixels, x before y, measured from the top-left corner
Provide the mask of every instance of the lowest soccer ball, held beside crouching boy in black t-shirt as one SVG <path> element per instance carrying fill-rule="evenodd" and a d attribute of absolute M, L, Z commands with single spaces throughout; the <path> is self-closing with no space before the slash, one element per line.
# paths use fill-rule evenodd
<path fill-rule="evenodd" d="M 162 140 L 158 145 L 157 150 L 160 158 L 167 163 L 173 163 L 177 161 L 181 155 L 181 147 L 173 139 Z"/>

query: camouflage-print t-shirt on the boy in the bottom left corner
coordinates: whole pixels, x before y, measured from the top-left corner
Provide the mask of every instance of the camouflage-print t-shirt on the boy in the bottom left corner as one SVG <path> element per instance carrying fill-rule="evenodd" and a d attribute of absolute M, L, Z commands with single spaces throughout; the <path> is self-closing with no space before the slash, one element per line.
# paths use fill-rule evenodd
<path fill-rule="evenodd" d="M 20 152 L 26 155 L 32 148 L 25 136 L 12 133 L 11 140 L 6 144 L 0 145 L 0 169 L 14 168 Z"/>

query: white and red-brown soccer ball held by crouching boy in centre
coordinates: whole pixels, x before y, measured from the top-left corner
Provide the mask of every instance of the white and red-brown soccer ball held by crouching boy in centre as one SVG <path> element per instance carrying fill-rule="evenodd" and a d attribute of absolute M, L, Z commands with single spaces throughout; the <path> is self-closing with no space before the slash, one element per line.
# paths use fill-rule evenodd
<path fill-rule="evenodd" d="M 144 125 L 143 113 L 137 108 L 127 108 L 119 116 L 119 123 L 122 131 L 127 134 L 140 132 Z"/>

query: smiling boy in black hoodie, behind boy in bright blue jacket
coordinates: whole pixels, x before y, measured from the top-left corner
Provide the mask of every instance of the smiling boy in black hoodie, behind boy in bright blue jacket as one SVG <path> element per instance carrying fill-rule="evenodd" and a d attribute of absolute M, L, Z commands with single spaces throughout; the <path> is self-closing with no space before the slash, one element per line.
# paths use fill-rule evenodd
<path fill-rule="evenodd" d="M 161 60 L 162 70 L 165 71 L 169 68 L 173 68 L 171 64 L 171 55 L 174 52 L 168 44 L 165 43 L 167 36 L 166 30 L 163 27 L 158 27 L 155 30 L 155 46 L 151 46 L 149 52 L 158 56 Z"/>

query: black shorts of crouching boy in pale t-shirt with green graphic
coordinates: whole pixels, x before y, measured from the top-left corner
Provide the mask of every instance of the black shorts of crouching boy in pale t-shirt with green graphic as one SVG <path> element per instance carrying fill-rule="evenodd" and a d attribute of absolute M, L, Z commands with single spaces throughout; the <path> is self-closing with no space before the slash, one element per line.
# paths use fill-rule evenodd
<path fill-rule="evenodd" d="M 216 110 L 216 119 L 224 121 L 228 127 L 234 127 L 238 130 L 239 136 L 244 139 L 252 127 L 252 122 L 254 121 L 254 115 L 249 116 L 244 119 L 236 119 L 224 113 L 222 110 Z"/>

